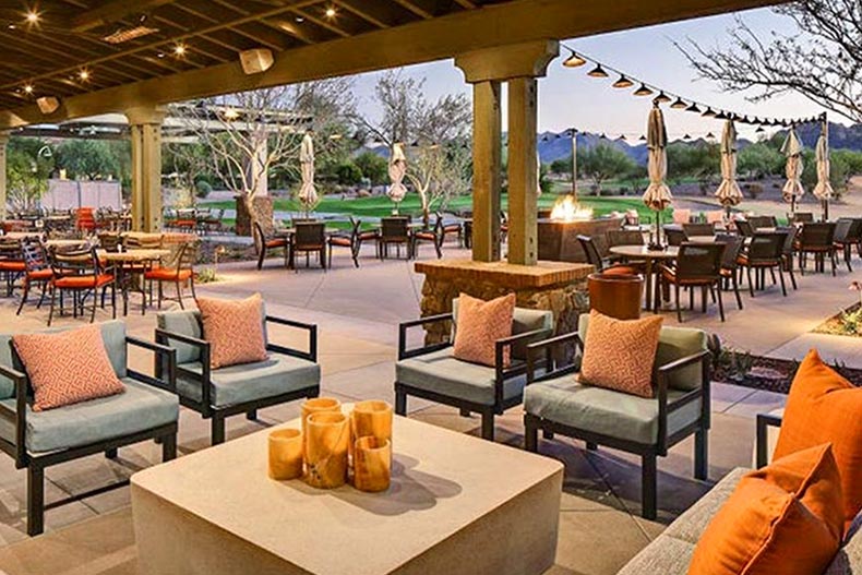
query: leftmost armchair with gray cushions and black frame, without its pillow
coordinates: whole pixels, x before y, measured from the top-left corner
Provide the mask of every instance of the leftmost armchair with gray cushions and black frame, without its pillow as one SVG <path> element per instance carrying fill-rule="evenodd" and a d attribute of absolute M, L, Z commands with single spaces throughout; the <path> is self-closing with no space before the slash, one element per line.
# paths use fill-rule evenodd
<path fill-rule="evenodd" d="M 169 379 L 151 378 L 128 369 L 127 346 L 154 351 L 168 374 L 176 369 L 176 352 L 127 336 L 121 321 L 99 324 L 99 328 L 111 367 L 125 391 L 45 411 L 33 410 L 28 378 L 10 345 L 12 336 L 0 335 L 0 450 L 15 459 L 16 467 L 27 468 L 27 534 L 31 536 L 44 529 L 45 468 L 99 452 L 116 457 L 118 447 L 151 439 L 161 442 L 163 460 L 176 456 L 179 402 L 171 383 Z M 77 495 L 74 501 L 83 496 L 86 494 Z M 51 507 L 71 501 L 55 502 Z"/>

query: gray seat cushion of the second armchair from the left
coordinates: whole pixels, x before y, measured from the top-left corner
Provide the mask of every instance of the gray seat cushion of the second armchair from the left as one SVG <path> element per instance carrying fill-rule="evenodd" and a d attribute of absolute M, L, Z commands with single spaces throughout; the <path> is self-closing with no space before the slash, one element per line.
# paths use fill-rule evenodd
<path fill-rule="evenodd" d="M 199 375 L 203 374 L 200 361 L 182 363 L 179 367 Z M 213 405 L 226 407 L 320 385 L 321 370 L 319 364 L 311 361 L 271 352 L 265 361 L 213 370 L 209 379 Z M 201 382 L 178 375 L 177 392 L 200 402 Z"/>

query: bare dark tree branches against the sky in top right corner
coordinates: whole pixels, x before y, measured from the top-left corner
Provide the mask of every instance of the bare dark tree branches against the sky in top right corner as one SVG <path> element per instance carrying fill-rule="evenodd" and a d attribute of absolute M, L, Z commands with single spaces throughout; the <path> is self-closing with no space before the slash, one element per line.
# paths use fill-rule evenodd
<path fill-rule="evenodd" d="M 742 17 L 726 45 L 693 40 L 678 47 L 701 76 L 753 101 L 793 92 L 853 122 L 862 122 L 862 2 L 800 0 L 773 9 L 793 21 L 792 34 L 767 37 Z"/>

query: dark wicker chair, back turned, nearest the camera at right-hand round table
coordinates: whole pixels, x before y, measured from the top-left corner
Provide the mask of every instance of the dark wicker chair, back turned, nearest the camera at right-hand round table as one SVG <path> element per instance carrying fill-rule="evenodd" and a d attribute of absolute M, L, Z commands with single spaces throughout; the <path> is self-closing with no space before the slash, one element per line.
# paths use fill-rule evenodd
<path fill-rule="evenodd" d="M 683 242 L 673 264 L 660 264 L 661 281 L 656 284 L 656 298 L 659 297 L 659 284 L 673 286 L 677 320 L 682 323 L 680 289 L 689 290 L 689 308 L 694 309 L 694 290 L 701 288 L 701 310 L 706 313 L 707 292 L 715 294 L 718 299 L 718 313 L 725 321 L 725 303 L 721 298 L 721 257 L 725 253 L 723 243 Z M 718 289 L 716 289 L 718 288 Z"/>

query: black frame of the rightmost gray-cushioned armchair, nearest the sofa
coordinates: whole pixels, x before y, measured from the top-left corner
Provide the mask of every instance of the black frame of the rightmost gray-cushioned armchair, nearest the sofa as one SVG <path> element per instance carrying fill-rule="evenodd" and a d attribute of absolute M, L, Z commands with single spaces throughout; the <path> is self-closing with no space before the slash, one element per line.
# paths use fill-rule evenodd
<path fill-rule="evenodd" d="M 571 333 L 539 342 L 527 346 L 527 385 L 546 380 L 552 380 L 563 375 L 574 374 L 577 371 L 575 364 L 559 368 L 553 362 L 552 349 L 561 345 L 576 344 L 582 350 L 584 344 L 578 334 Z M 633 453 L 640 456 L 640 481 L 642 481 L 642 511 L 645 519 L 655 519 L 658 511 L 658 466 L 657 458 L 668 455 L 668 450 L 673 445 L 685 440 L 694 433 L 694 477 L 706 480 L 709 472 L 709 428 L 711 424 L 710 415 L 710 383 L 709 383 L 709 358 L 708 350 L 703 350 L 663 366 L 654 368 L 654 382 L 656 382 L 656 400 L 658 402 L 658 441 L 655 444 L 646 444 L 636 441 L 623 440 L 601 433 L 592 433 L 579 430 L 571 426 L 565 426 L 543 419 L 531 414 L 524 415 L 525 428 L 525 448 L 529 452 L 539 451 L 539 430 L 542 431 L 544 439 L 553 439 L 554 433 L 560 433 L 567 438 L 573 438 L 586 442 L 588 451 L 595 451 L 599 445 L 604 445 L 613 450 Z M 544 370 L 540 376 L 536 376 L 537 367 L 549 366 L 552 369 Z M 690 366 L 701 364 L 702 386 L 693 390 L 674 402 L 668 402 L 668 382 L 672 373 Z M 692 402 L 701 402 L 701 417 L 698 421 L 686 426 L 677 433 L 668 433 L 668 416 L 682 409 Z"/>

